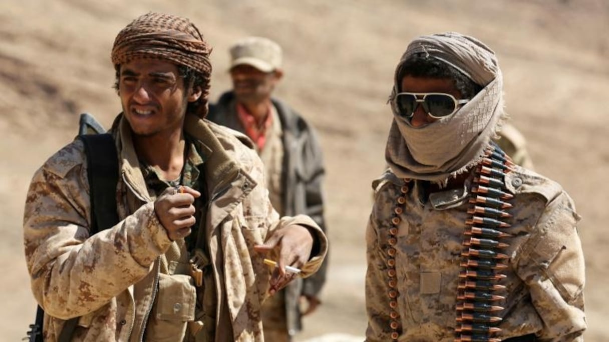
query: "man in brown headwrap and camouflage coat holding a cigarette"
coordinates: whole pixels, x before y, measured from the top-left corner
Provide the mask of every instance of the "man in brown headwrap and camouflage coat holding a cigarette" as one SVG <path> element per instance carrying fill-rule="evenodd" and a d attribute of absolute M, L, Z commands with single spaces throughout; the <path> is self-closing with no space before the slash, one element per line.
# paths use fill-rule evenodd
<path fill-rule="evenodd" d="M 262 341 L 261 303 L 294 277 L 284 267 L 322 263 L 322 230 L 279 217 L 250 141 L 203 120 L 210 52 L 188 19 L 162 13 L 116 37 L 117 225 L 90 234 L 79 139 L 33 176 L 24 244 L 45 341 L 74 319 L 69 341 Z"/>

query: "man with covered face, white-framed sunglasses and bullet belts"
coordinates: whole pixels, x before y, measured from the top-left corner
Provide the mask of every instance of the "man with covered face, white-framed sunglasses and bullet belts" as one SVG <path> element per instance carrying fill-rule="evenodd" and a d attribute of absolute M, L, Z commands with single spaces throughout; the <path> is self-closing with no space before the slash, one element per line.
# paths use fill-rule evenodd
<path fill-rule="evenodd" d="M 491 141 L 502 90 L 495 53 L 459 33 L 418 37 L 398 63 L 367 228 L 367 341 L 582 341 L 579 215 Z"/>

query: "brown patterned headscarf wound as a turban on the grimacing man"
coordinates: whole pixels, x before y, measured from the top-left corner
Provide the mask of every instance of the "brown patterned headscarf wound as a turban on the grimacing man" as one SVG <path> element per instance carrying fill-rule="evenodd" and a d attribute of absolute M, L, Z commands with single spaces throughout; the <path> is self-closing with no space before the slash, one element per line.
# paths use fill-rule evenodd
<path fill-rule="evenodd" d="M 128 24 L 116 36 L 112 47 L 112 63 L 121 65 L 135 58 L 169 60 L 200 72 L 202 105 L 200 116 L 207 114 L 209 80 L 211 78 L 211 47 L 187 18 L 164 13 L 147 13 Z"/>

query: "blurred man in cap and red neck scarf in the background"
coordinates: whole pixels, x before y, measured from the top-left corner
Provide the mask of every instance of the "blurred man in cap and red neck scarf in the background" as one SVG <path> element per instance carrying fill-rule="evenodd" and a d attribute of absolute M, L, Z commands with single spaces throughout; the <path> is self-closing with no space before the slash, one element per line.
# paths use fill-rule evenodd
<path fill-rule="evenodd" d="M 264 162 L 273 207 L 283 215 L 309 215 L 325 231 L 322 150 L 309 123 L 286 103 L 272 97 L 283 76 L 281 47 L 272 40 L 248 37 L 230 48 L 233 90 L 210 106 L 208 119 L 247 134 Z M 320 304 L 326 262 L 304 281 L 297 279 L 262 308 L 264 336 L 290 341 L 304 315 Z"/>

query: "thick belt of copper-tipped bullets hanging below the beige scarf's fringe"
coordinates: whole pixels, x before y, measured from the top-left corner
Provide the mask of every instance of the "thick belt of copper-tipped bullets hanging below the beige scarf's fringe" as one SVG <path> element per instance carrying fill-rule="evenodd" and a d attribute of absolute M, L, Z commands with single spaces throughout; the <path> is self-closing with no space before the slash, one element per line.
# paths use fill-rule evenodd
<path fill-rule="evenodd" d="M 510 227 L 506 221 L 512 215 L 506 210 L 512 208 L 507 200 L 513 195 L 504 191 L 504 175 L 512 167 L 510 157 L 493 144 L 476 169 L 468 210 L 472 217 L 463 230 L 455 342 L 501 341 L 493 337 L 501 331 L 497 325 L 502 320 L 494 313 L 504 309 L 496 302 L 505 298 L 505 286 L 499 282 L 506 277 L 502 271 L 508 256 L 502 252 L 509 245 L 501 240 L 511 236 L 503 229 Z"/>

